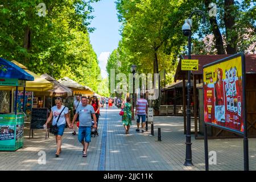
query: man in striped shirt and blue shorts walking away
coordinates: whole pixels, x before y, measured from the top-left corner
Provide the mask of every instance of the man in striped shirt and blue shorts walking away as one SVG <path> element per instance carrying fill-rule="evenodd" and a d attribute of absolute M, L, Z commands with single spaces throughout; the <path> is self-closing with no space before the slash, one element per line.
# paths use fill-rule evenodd
<path fill-rule="evenodd" d="M 145 130 L 146 124 L 146 114 L 147 114 L 148 103 L 147 100 L 143 98 L 143 93 L 141 93 L 141 98 L 137 100 L 135 115 L 137 115 L 137 129 L 139 131 L 139 123 L 141 122 L 142 133 Z"/>

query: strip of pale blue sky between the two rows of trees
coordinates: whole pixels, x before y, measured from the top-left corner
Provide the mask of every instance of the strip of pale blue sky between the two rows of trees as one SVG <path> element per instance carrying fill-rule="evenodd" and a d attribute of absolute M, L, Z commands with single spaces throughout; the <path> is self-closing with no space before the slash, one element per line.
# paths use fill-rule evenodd
<path fill-rule="evenodd" d="M 102 77 L 107 77 L 106 63 L 110 53 L 118 47 L 121 40 L 119 28 L 121 23 L 117 19 L 115 0 L 101 0 L 93 3 L 93 16 L 90 27 L 96 28 L 90 33 L 90 43 L 97 54 Z"/>

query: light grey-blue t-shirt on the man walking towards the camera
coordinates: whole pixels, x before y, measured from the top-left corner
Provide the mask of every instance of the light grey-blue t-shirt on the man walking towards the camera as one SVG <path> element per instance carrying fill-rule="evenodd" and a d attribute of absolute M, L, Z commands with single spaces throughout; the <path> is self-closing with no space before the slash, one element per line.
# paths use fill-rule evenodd
<path fill-rule="evenodd" d="M 79 126 L 92 126 L 91 115 L 95 113 L 92 105 L 79 105 L 76 113 L 79 114 Z"/>

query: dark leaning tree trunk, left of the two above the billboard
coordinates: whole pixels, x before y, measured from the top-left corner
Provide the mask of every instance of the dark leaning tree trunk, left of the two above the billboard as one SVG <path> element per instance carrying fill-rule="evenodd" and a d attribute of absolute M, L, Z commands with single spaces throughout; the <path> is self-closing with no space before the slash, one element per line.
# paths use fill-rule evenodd
<path fill-rule="evenodd" d="M 208 7 L 208 12 L 211 9 L 209 7 L 210 3 L 211 2 L 209 0 L 204 1 L 205 7 Z M 218 27 L 216 17 L 215 16 L 209 17 L 209 20 L 210 20 L 210 26 L 211 26 L 211 29 L 213 31 L 213 35 L 214 35 L 214 38 L 215 38 L 215 48 L 217 49 L 217 53 L 218 53 L 218 55 L 225 55 L 222 35 L 221 35 L 221 32 L 220 32 L 220 28 Z"/>

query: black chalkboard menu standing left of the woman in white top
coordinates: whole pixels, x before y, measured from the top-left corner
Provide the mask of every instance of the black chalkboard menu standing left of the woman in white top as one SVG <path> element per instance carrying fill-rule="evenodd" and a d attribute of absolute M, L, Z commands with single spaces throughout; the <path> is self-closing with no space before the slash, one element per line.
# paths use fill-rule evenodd
<path fill-rule="evenodd" d="M 47 120 L 47 108 L 32 108 L 30 129 L 44 129 Z"/>

